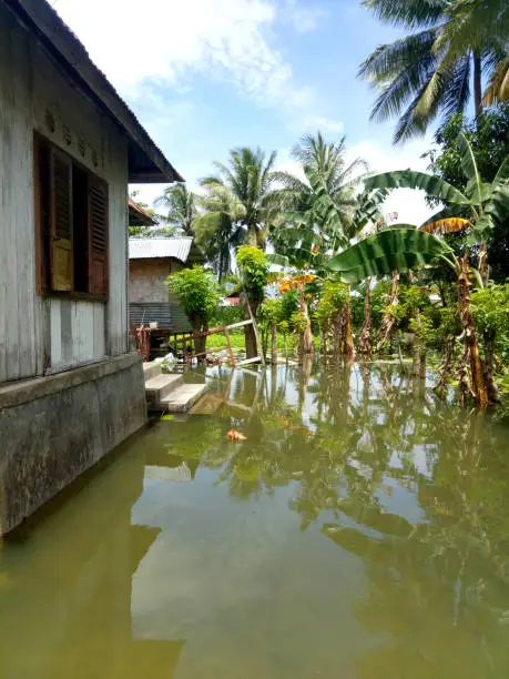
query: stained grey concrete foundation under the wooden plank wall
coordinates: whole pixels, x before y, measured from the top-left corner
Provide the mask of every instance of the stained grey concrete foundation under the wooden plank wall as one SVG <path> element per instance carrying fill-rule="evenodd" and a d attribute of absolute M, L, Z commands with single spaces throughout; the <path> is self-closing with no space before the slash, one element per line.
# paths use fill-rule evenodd
<path fill-rule="evenodd" d="M 145 422 L 138 354 L 0 387 L 0 534 Z"/>

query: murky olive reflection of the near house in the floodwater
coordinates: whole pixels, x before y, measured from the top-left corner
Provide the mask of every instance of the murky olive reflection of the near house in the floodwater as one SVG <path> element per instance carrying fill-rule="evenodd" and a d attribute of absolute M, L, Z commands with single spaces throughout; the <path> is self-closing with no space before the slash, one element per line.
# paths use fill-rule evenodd
<path fill-rule="evenodd" d="M 183 639 L 136 636 L 132 580 L 161 529 L 131 524 L 140 450 L 106 467 L 0 554 L 0 676 L 171 679 Z"/>

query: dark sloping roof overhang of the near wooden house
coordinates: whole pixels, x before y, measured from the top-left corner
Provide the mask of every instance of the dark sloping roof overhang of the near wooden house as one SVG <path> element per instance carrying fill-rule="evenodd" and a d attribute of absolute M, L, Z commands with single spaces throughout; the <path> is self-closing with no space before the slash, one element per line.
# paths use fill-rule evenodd
<path fill-rule="evenodd" d="M 45 0 L 0 0 L 27 27 L 68 77 L 105 111 L 128 138 L 129 181 L 183 182 L 134 113 L 90 59 L 77 36 Z M 133 21 L 135 18 L 133 17 Z"/>

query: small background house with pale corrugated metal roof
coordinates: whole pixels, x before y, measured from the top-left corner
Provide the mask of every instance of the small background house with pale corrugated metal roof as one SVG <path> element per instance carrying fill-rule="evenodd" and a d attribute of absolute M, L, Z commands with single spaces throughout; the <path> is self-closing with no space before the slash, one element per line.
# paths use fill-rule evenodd
<path fill-rule="evenodd" d="M 170 274 L 203 261 L 191 236 L 129 239 L 129 311 L 134 325 L 157 324 L 166 335 L 191 332 L 187 316 L 169 292 L 166 281 Z"/>

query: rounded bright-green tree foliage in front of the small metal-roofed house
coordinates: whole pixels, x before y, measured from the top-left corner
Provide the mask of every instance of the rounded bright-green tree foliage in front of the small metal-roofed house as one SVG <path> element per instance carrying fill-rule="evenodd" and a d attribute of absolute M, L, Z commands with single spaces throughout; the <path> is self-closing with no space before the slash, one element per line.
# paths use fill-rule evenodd
<path fill-rule="evenodd" d="M 185 313 L 208 322 L 217 307 L 220 294 L 214 275 L 203 266 L 183 268 L 167 278 Z"/>

